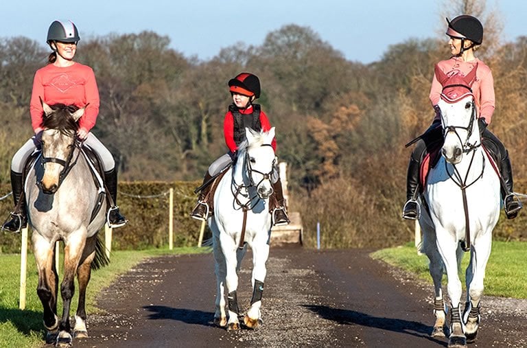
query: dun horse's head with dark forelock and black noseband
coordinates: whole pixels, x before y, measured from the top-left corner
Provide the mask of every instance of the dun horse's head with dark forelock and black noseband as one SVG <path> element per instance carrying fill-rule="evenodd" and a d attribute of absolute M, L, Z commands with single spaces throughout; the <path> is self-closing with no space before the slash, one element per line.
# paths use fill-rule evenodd
<path fill-rule="evenodd" d="M 69 170 L 69 164 L 75 148 L 75 134 L 78 119 L 84 114 L 84 108 L 64 104 L 47 105 L 44 109 L 42 132 L 43 177 L 39 182 L 45 194 L 54 194 L 60 181 Z"/>

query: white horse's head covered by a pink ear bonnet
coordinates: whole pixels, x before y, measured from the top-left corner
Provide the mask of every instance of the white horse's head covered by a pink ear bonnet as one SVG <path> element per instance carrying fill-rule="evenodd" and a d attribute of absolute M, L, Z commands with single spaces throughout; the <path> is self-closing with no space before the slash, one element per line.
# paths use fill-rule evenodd
<path fill-rule="evenodd" d="M 471 89 L 476 80 L 477 68 L 476 65 L 467 76 L 462 76 L 460 73 L 447 75 L 437 65 L 435 67 L 436 78 L 443 86 L 441 100 L 437 103 L 445 137 L 441 152 L 445 160 L 452 164 L 460 163 L 463 154 L 480 145 L 476 105 Z"/>

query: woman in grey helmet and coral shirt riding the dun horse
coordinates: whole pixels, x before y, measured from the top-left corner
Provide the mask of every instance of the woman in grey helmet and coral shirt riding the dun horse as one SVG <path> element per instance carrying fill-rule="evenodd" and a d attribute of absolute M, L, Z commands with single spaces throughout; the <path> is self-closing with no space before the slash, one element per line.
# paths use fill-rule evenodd
<path fill-rule="evenodd" d="M 11 186 L 15 211 L 11 213 L 11 219 L 3 224 L 2 229 L 18 232 L 27 224 L 25 200 L 21 200 L 20 204 L 19 200 L 23 193 L 23 167 L 30 154 L 40 146 L 44 113 L 40 98 L 48 105 L 60 103 L 78 108 L 86 107 L 84 115 L 79 119 L 77 135 L 99 155 L 104 168 L 106 187 L 113 202 L 117 200 L 115 161 L 108 149 L 90 132 L 99 114 L 99 90 L 91 67 L 73 61 L 78 40 L 80 38 L 77 27 L 71 21 L 54 21 L 49 26 L 47 44 L 53 52 L 49 55 L 49 64 L 35 73 L 30 102 L 31 123 L 35 135 L 13 156 Z M 121 215 L 115 203 L 108 212 L 108 224 L 110 227 L 120 227 L 126 222 L 128 220 Z"/>

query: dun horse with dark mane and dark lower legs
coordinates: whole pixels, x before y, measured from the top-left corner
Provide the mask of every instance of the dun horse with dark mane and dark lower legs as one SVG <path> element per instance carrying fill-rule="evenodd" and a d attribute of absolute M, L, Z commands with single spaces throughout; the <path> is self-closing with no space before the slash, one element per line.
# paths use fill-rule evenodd
<path fill-rule="evenodd" d="M 100 177 L 95 185 L 89 160 L 75 143 L 84 108 L 43 103 L 42 152 L 27 174 L 25 196 L 38 268 L 37 293 L 44 308 L 47 343 L 71 345 L 69 312 L 79 283 L 73 336 L 87 337 L 85 298 L 91 268 L 108 263 L 97 232 L 105 222 L 106 200 Z M 75 111 L 76 110 L 76 111 Z M 62 316 L 57 315 L 58 273 L 55 242 L 64 242 L 64 277 L 60 285 Z"/>

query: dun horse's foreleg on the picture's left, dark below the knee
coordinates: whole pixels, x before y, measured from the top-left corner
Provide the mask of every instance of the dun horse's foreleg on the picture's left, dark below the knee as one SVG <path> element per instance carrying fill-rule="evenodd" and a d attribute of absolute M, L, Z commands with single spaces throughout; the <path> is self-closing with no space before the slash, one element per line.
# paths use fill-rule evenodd
<path fill-rule="evenodd" d="M 54 242 L 45 240 L 38 231 L 32 235 L 38 286 L 36 293 L 43 306 L 43 321 L 47 330 L 46 343 L 54 343 L 58 334 L 57 292 L 58 275 L 56 271 Z"/>

